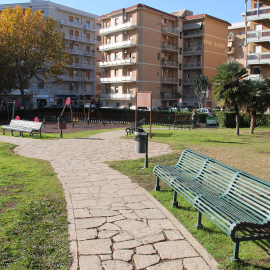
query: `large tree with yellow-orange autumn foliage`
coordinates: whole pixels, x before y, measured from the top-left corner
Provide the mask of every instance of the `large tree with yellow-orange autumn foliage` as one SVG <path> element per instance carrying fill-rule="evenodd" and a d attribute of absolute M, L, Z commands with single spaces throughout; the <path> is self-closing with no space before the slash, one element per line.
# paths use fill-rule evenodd
<path fill-rule="evenodd" d="M 8 7 L 0 14 L 0 92 L 19 89 L 23 104 L 24 90 L 33 82 L 58 84 L 68 64 L 64 32 L 56 19 Z"/>

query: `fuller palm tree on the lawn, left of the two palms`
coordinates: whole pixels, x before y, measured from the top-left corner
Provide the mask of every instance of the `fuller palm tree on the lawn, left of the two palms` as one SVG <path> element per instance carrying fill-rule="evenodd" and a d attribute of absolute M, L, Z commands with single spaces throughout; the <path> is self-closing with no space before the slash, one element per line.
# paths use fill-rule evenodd
<path fill-rule="evenodd" d="M 245 67 L 240 67 L 237 61 L 230 61 L 217 66 L 217 74 L 212 78 L 216 101 L 228 108 L 235 108 L 236 135 L 239 135 L 239 111 L 249 98 L 249 87 L 244 81 L 247 75 Z"/>

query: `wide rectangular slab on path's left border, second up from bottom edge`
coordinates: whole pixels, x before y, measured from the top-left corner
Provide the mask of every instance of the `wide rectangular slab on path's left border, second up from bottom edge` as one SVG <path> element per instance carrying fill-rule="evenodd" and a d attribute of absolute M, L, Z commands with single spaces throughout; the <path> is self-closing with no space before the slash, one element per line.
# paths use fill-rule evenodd
<path fill-rule="evenodd" d="M 78 242 L 81 255 L 111 254 L 111 239 L 95 239 Z"/>

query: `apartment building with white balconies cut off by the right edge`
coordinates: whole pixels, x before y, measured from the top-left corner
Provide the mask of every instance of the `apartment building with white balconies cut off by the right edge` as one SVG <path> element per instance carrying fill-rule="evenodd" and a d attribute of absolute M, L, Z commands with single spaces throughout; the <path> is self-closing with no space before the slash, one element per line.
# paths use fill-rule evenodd
<path fill-rule="evenodd" d="M 246 32 L 247 60 L 252 79 L 263 79 L 270 73 L 270 2 L 251 0 L 242 16 L 250 24 Z"/>

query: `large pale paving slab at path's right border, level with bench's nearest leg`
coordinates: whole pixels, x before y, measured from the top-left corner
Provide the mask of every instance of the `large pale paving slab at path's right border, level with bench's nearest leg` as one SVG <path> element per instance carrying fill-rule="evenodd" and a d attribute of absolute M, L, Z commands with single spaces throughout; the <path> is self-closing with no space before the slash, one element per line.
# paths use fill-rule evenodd
<path fill-rule="evenodd" d="M 156 243 L 154 247 L 161 259 L 175 260 L 199 256 L 190 243 L 185 240 Z"/>

